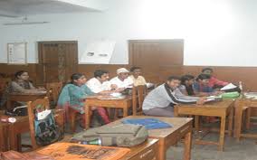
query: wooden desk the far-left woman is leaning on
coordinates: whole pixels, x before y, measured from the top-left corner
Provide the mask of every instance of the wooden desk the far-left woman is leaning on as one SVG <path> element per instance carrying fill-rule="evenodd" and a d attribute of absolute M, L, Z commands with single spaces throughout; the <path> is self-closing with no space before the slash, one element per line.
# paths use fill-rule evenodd
<path fill-rule="evenodd" d="M 11 93 L 8 96 L 6 106 L 7 108 L 13 108 L 14 101 L 33 101 L 35 99 L 43 99 L 46 93 Z"/>

